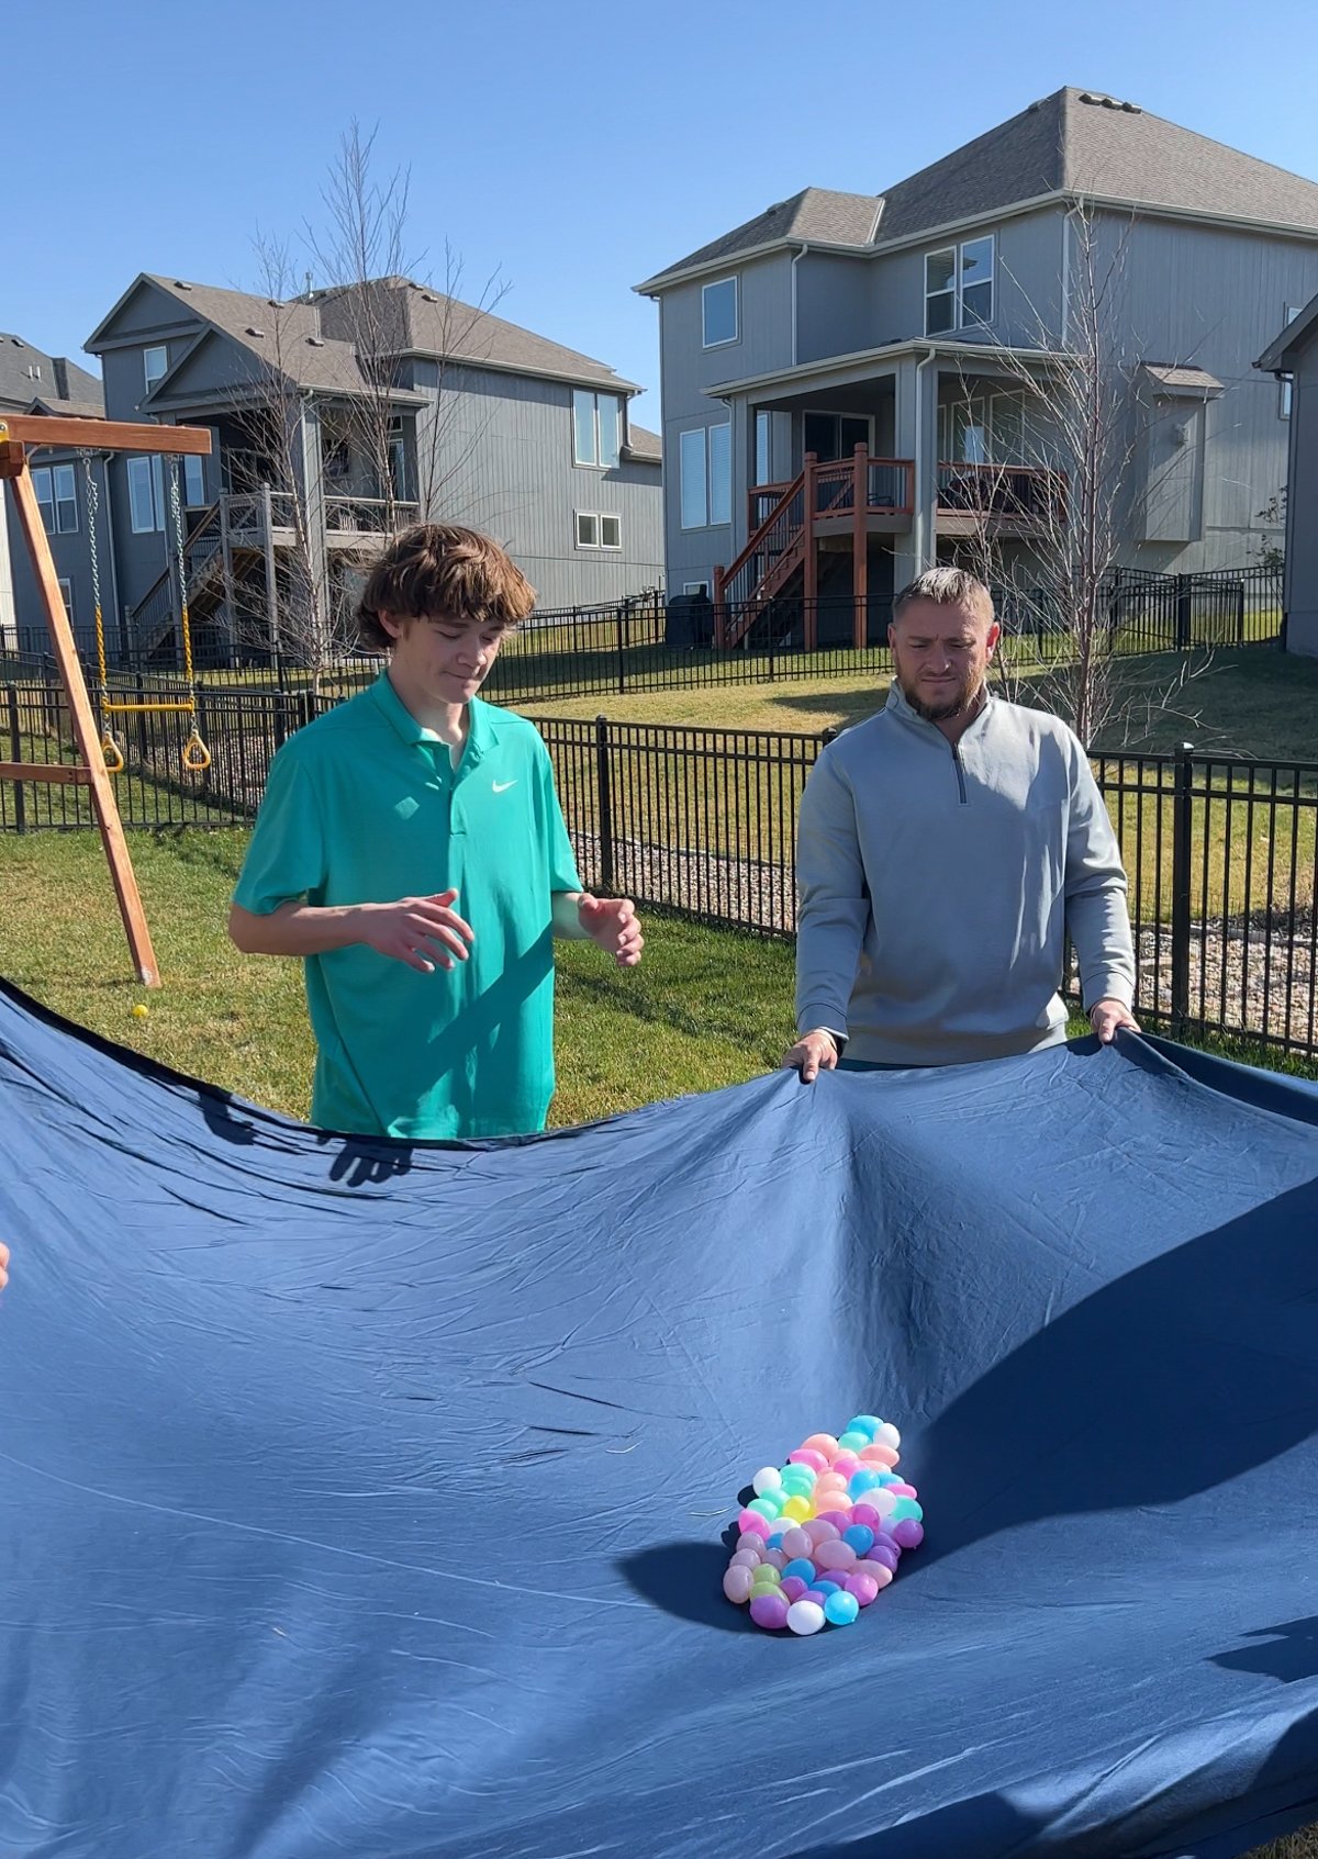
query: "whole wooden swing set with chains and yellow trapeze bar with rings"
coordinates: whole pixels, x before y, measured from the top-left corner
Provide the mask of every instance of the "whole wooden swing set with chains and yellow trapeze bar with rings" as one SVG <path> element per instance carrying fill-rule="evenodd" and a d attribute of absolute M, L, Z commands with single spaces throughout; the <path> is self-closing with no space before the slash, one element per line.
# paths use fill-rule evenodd
<path fill-rule="evenodd" d="M 50 554 L 46 526 L 41 521 L 37 493 L 32 485 L 28 448 L 71 446 L 82 452 L 86 491 L 87 491 L 87 541 L 91 552 L 93 600 L 97 617 L 97 703 L 100 710 L 100 732 L 91 710 L 87 684 L 78 662 L 72 626 L 65 612 L 56 563 Z M 184 656 L 186 697 L 182 699 L 141 699 L 121 703 L 112 699 L 104 619 L 100 613 L 100 561 L 97 552 L 97 483 L 91 470 L 91 457 L 97 452 L 147 452 L 169 459 L 169 506 L 173 521 L 173 547 L 178 571 L 180 626 L 178 636 Z M 182 500 L 178 496 L 178 459 L 204 457 L 210 452 L 210 433 L 199 426 L 125 426 L 112 420 L 63 420 L 45 415 L 0 415 L 0 481 L 9 485 L 19 511 L 19 524 L 28 543 L 32 567 L 37 578 L 37 597 L 45 608 L 50 630 L 50 647 L 59 667 L 72 721 L 72 734 L 78 745 L 78 762 L 0 762 L 0 781 L 39 781 L 72 783 L 91 794 L 91 807 L 100 829 L 100 844 L 106 850 L 106 863 L 113 879 L 123 916 L 128 950 L 132 954 L 138 980 L 145 987 L 160 987 L 156 954 L 151 946 L 147 915 L 141 907 L 138 879 L 128 857 L 128 842 L 123 833 L 123 820 L 115 803 L 112 775 L 121 773 L 125 753 L 113 729 L 115 716 L 175 712 L 191 719 L 191 734 L 182 749 L 182 766 L 197 773 L 210 766 L 210 751 L 197 731 L 197 686 L 191 662 L 191 628 L 188 621 L 188 580 L 182 537 Z M 4 515 L 0 511 L 0 521 Z"/>

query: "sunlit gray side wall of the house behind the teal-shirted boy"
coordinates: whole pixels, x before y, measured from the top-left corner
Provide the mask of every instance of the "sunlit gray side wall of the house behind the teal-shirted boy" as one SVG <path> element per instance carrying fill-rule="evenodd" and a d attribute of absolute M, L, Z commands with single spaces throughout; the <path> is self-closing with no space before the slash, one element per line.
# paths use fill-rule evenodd
<path fill-rule="evenodd" d="M 658 465 L 613 470 L 573 463 L 573 389 L 489 368 L 418 366 L 433 394 L 418 416 L 416 454 L 429 515 L 494 535 L 543 608 L 593 606 L 664 580 Z M 615 515 L 621 550 L 578 548 L 576 511 Z"/>

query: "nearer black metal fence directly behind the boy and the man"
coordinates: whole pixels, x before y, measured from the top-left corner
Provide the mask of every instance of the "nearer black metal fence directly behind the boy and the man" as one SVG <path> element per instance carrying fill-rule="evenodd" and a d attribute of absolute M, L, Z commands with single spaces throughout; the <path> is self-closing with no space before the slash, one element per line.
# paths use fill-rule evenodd
<path fill-rule="evenodd" d="M 56 686 L 2 695 L 0 758 L 74 758 Z M 184 718 L 134 718 L 117 781 L 125 824 L 249 822 L 271 755 L 316 708 L 307 692 L 206 692 L 204 775 L 180 768 Z M 792 933 L 797 807 L 827 738 L 604 718 L 539 729 L 587 885 L 710 924 Z M 1173 1034 L 1316 1054 L 1318 762 L 1180 753 L 1093 766 L 1130 877 L 1140 1015 Z M 0 783 L 0 831 L 89 824 L 84 788 Z"/>

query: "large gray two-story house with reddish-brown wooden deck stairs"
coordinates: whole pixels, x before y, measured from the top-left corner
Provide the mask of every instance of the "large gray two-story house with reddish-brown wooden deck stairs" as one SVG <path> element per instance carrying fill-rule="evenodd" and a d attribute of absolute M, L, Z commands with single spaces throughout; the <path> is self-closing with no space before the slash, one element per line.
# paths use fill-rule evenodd
<path fill-rule="evenodd" d="M 1063 89 L 885 193 L 807 188 L 636 288 L 660 305 L 669 593 L 708 591 L 725 643 L 779 595 L 805 597 L 807 634 L 811 597 L 850 597 L 859 643 L 985 530 L 1009 576 L 1037 573 L 1067 521 L 1058 357 L 1095 307 L 1128 400 L 1115 560 L 1255 560 L 1286 418 L 1251 363 L 1318 288 L 1318 184 Z"/>

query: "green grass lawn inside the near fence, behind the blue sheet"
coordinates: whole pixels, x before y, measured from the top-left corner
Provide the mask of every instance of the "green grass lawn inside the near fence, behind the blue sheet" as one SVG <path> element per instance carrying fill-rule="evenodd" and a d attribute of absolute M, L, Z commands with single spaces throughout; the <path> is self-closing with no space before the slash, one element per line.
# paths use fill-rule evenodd
<path fill-rule="evenodd" d="M 301 965 L 244 957 L 223 933 L 245 833 L 134 835 L 165 985 L 132 980 L 95 833 L 0 838 L 0 972 L 35 998 L 178 1071 L 307 1114 L 312 1041 Z M 134 1004 L 149 1008 L 134 1019 Z M 740 1084 L 790 1039 L 792 950 L 656 920 L 641 969 L 560 948 L 554 1125 Z"/>

